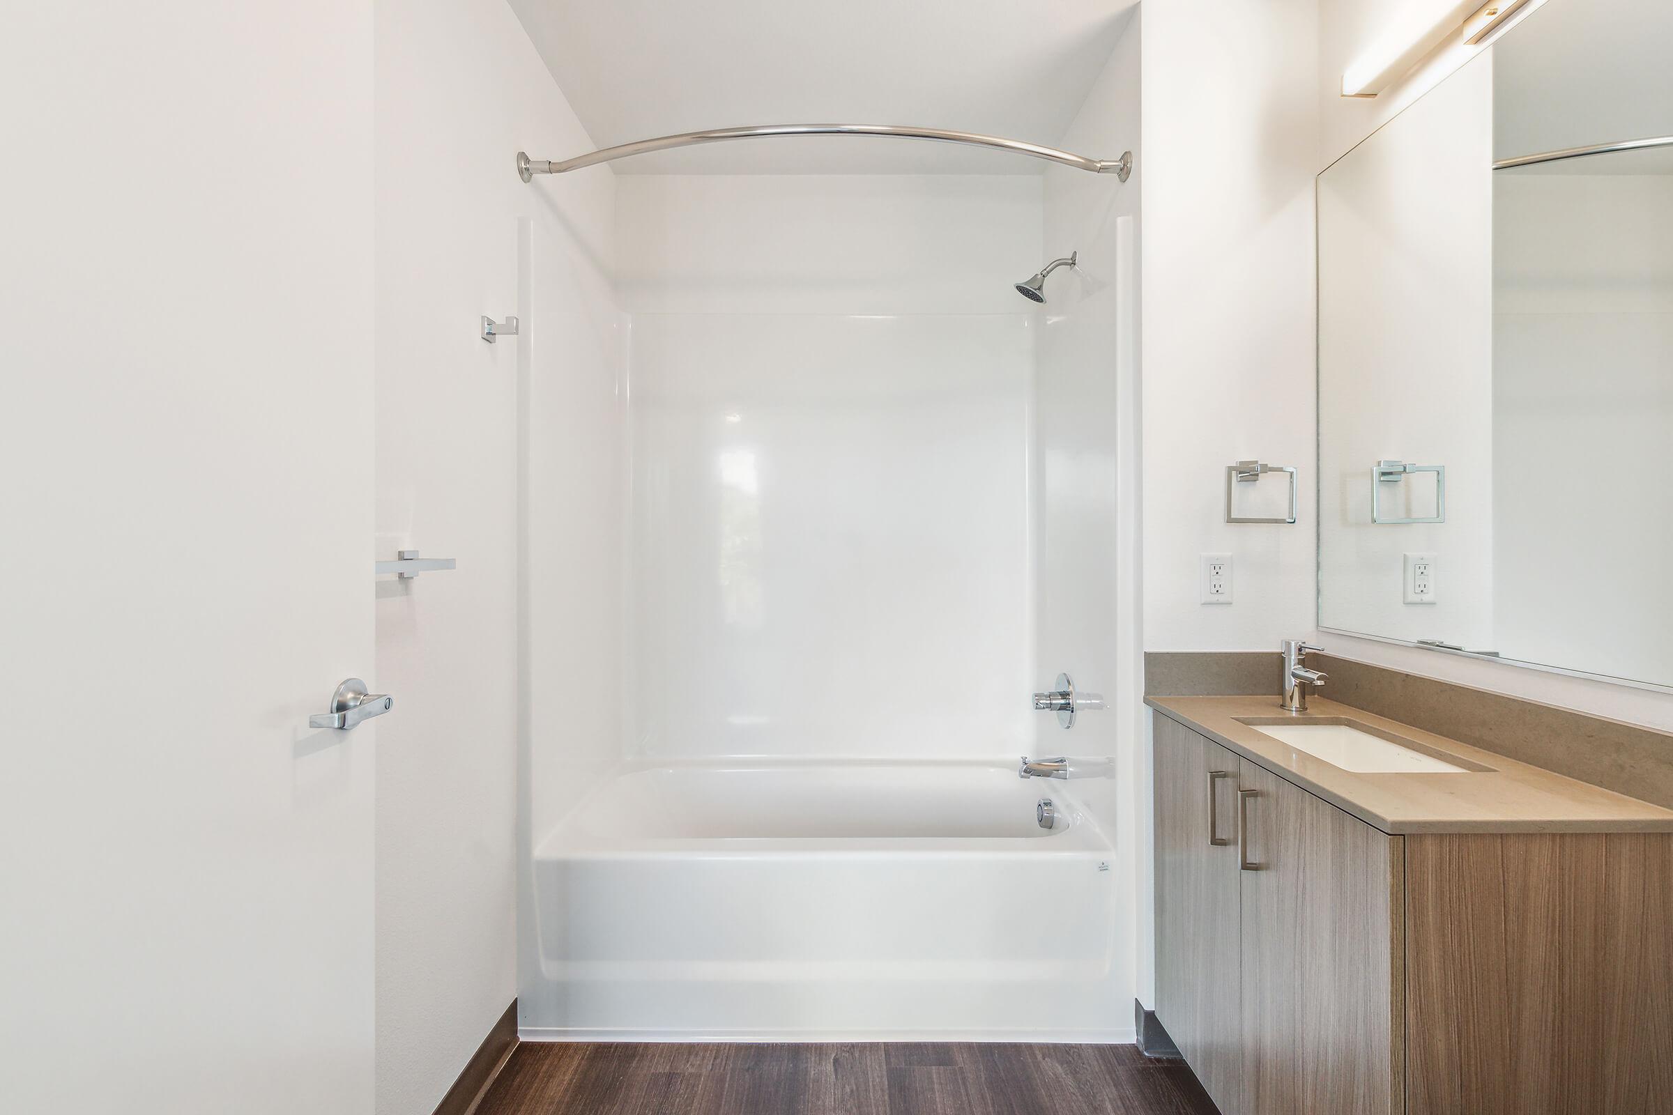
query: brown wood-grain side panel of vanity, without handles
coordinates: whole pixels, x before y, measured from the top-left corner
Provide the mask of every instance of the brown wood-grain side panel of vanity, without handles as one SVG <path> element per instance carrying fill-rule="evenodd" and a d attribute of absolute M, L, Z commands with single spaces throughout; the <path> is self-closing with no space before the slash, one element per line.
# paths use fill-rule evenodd
<path fill-rule="evenodd" d="M 1673 1108 L 1673 834 L 1405 841 L 1412 1115 Z"/>

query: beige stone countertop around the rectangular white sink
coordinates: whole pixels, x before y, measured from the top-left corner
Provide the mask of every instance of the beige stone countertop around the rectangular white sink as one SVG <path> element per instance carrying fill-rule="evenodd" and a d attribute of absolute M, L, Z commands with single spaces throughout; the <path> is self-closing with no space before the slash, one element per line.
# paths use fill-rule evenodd
<path fill-rule="evenodd" d="M 1673 832 L 1673 811 L 1322 697 L 1312 699 L 1307 712 L 1285 712 L 1275 695 L 1146 697 L 1144 704 L 1384 832 Z M 1355 774 L 1240 717 L 1350 720 L 1469 769 Z"/>

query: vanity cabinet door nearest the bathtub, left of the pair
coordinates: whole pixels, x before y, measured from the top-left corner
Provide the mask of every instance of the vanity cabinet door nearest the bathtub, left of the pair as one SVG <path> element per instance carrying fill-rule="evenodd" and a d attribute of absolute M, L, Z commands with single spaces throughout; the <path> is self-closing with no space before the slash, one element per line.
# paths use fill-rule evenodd
<path fill-rule="evenodd" d="M 1163 715 L 1154 739 L 1156 1016 L 1220 1110 L 1233 1115 L 1241 1060 L 1238 759 Z"/>

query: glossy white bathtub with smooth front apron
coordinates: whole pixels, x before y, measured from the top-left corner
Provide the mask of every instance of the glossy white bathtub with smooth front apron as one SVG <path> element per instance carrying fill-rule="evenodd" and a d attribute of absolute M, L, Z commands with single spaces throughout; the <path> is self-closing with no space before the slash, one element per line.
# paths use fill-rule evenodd
<path fill-rule="evenodd" d="M 1016 761 L 622 772 L 535 851 L 522 1036 L 1116 1040 L 1082 786 Z"/>

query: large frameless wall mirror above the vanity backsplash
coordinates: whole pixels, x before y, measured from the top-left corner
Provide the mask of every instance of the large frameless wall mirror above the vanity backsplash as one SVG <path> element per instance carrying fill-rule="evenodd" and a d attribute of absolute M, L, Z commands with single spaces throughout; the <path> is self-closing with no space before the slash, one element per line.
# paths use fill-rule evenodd
<path fill-rule="evenodd" d="M 1670 47 L 1548 0 L 1318 177 L 1322 629 L 1673 685 Z"/>

